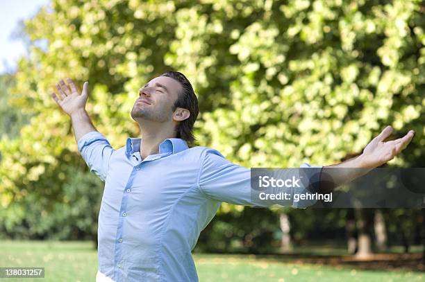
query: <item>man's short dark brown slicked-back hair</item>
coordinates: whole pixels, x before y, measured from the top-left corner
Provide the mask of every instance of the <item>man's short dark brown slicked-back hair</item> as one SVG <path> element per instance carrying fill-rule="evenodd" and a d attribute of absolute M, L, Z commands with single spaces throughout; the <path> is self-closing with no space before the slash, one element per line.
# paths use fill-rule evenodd
<path fill-rule="evenodd" d="M 188 143 L 193 143 L 196 139 L 193 135 L 193 125 L 197 120 L 199 109 L 198 109 L 198 98 L 194 93 L 192 85 L 190 84 L 188 78 L 185 77 L 183 73 L 178 71 L 167 71 L 161 76 L 167 76 L 173 78 L 180 82 L 183 90 L 178 93 L 178 98 L 174 103 L 174 109 L 177 107 L 182 107 L 183 109 L 188 109 L 190 116 L 184 121 L 181 121 L 176 128 L 176 137 L 185 140 Z"/>

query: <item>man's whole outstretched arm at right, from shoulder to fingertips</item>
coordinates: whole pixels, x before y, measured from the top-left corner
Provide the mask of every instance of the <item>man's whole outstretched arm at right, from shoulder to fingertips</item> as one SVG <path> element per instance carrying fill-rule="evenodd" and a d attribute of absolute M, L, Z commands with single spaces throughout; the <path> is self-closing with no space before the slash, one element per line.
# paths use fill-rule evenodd
<path fill-rule="evenodd" d="M 332 192 L 335 186 L 350 182 L 351 180 L 366 174 L 372 168 L 376 168 L 390 161 L 395 156 L 399 155 L 403 148 L 406 148 L 414 132 L 411 130 L 400 139 L 387 141 L 388 136 L 392 132 L 392 127 L 386 127 L 381 134 L 376 136 L 363 150 L 363 154 L 359 157 L 349 159 L 340 164 L 325 167 L 306 168 L 311 170 L 308 173 L 308 183 L 317 183 L 316 176 L 319 175 L 320 190 L 319 193 Z M 226 160 L 219 152 L 213 149 L 206 150 L 201 156 L 201 170 L 199 172 L 198 186 L 199 190 L 213 200 L 219 202 L 228 202 L 231 204 L 253 205 L 253 206 L 271 206 L 272 204 L 281 204 L 287 206 L 304 207 L 314 204 L 313 202 L 294 202 L 294 193 L 305 193 L 306 186 L 300 189 L 282 188 L 281 191 L 288 192 L 292 196 L 287 200 L 279 202 L 270 200 L 260 200 L 252 193 L 251 188 L 251 171 L 249 168 L 244 168 L 236 164 L 232 164 Z M 344 169 L 338 169 L 344 168 Z M 297 170 L 285 170 L 281 173 L 288 177 L 292 177 Z M 281 177 L 278 175 L 277 178 Z M 311 177 L 311 178 L 310 178 Z M 331 179 L 326 179 L 331 177 Z M 285 177 L 283 177 L 285 178 Z M 329 182 L 328 180 L 331 180 Z M 309 188 L 316 189 L 316 185 Z M 309 189 L 308 188 L 308 189 Z M 270 191 L 273 192 L 274 191 Z"/>

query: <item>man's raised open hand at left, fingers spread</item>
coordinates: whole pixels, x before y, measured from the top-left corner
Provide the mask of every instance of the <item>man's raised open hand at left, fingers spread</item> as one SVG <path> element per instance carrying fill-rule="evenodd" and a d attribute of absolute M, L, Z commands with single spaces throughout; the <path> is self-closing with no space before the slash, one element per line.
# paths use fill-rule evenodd
<path fill-rule="evenodd" d="M 88 99 L 88 82 L 84 82 L 81 94 L 78 92 L 71 78 L 67 78 L 67 82 L 68 85 L 63 80 L 56 83 L 56 89 L 58 89 L 59 95 L 53 92 L 51 97 L 65 113 L 72 116 L 72 114 L 85 108 L 85 103 Z"/>

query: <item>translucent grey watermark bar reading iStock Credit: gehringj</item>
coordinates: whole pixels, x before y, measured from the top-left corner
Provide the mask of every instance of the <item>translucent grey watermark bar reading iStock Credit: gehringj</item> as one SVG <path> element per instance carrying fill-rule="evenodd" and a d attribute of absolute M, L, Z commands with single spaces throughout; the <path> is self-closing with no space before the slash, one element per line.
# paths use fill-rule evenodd
<path fill-rule="evenodd" d="M 425 168 L 251 168 L 260 207 L 424 208 Z"/>

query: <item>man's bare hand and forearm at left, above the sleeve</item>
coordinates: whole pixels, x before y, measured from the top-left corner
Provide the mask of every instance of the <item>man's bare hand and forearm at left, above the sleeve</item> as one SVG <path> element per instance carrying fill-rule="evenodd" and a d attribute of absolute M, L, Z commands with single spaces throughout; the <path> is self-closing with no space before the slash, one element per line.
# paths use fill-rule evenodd
<path fill-rule="evenodd" d="M 68 85 L 63 80 L 56 83 L 59 95 L 53 92 L 51 96 L 59 107 L 71 117 L 75 140 L 78 142 L 88 132 L 96 131 L 90 116 L 85 112 L 85 103 L 87 103 L 88 99 L 88 82 L 84 82 L 81 94 L 70 78 L 67 78 L 67 82 Z"/>

